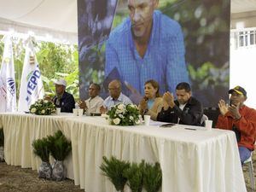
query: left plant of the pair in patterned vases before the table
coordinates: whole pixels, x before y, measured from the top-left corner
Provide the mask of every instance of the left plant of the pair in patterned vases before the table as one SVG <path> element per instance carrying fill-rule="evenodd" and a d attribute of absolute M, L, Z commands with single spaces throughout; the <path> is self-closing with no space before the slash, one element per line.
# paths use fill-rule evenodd
<path fill-rule="evenodd" d="M 38 155 L 42 160 L 39 166 L 38 177 L 50 179 L 51 166 L 49 165 L 49 141 L 47 138 L 37 139 L 32 142 L 33 153 Z"/>

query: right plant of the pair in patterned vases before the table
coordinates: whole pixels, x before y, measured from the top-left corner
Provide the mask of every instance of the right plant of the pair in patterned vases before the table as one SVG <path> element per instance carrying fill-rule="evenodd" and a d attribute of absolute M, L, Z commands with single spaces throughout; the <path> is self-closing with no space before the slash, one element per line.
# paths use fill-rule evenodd
<path fill-rule="evenodd" d="M 71 152 L 71 142 L 67 140 L 61 131 L 55 132 L 54 136 L 48 136 L 50 154 L 55 158 L 52 165 L 52 179 L 55 181 L 64 180 L 67 176 L 63 160 Z"/>

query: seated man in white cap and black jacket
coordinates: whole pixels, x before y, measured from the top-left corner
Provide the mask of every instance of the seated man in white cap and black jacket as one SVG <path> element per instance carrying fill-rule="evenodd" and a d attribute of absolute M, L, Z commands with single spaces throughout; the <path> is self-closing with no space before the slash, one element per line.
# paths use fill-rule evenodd
<path fill-rule="evenodd" d="M 66 92 L 67 82 L 64 79 L 58 79 L 55 82 L 56 96 L 53 98 L 56 108 L 61 108 L 61 112 L 73 113 L 75 101 L 73 95 Z"/>

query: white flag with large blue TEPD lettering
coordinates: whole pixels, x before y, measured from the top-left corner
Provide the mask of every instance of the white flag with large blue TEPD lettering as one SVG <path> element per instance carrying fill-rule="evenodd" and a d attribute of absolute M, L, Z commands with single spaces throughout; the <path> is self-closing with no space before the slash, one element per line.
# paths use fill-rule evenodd
<path fill-rule="evenodd" d="M 28 112 L 29 107 L 38 99 L 44 98 L 44 87 L 38 60 L 32 44 L 33 38 L 26 40 L 26 54 L 20 81 L 20 99 L 18 110 Z"/>

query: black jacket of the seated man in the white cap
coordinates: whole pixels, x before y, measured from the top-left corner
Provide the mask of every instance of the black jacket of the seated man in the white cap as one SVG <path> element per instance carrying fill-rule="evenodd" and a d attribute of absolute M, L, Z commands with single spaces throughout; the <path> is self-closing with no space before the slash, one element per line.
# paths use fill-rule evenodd
<path fill-rule="evenodd" d="M 53 98 L 53 102 L 55 103 L 56 108 L 61 108 L 61 112 L 73 113 L 73 108 L 75 108 L 75 101 L 73 95 L 70 93 L 65 91 L 61 96 L 59 104 L 56 103 L 57 96 Z"/>

